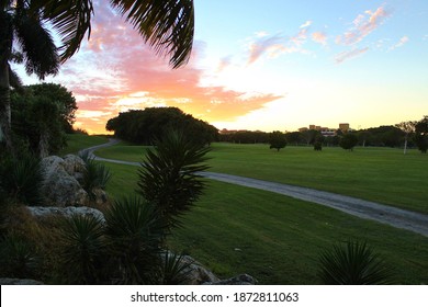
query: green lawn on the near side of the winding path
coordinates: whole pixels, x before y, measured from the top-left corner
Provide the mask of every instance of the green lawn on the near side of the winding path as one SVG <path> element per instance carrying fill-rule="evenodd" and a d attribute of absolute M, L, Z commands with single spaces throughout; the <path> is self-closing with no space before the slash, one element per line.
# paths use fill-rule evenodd
<path fill-rule="evenodd" d="M 136 167 L 106 163 L 114 197 L 136 189 Z M 367 241 L 386 258 L 397 284 L 428 283 L 428 238 L 259 190 L 209 181 L 184 227 L 169 240 L 221 277 L 240 273 L 260 284 L 317 284 L 318 254 L 334 242 Z"/>

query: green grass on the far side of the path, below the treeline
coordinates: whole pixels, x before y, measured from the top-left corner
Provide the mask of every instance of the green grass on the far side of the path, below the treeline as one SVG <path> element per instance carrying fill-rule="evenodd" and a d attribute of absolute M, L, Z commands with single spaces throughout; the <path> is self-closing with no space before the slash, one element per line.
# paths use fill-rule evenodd
<path fill-rule="evenodd" d="M 428 157 L 417 150 L 286 147 L 214 144 L 211 171 L 307 186 L 428 214 Z M 140 161 L 143 146 L 117 145 L 104 158 Z"/>

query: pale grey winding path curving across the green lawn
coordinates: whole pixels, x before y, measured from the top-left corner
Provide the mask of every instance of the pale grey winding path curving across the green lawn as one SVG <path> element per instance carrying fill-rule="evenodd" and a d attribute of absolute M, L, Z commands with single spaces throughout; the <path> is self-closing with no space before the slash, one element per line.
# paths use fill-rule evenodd
<path fill-rule="evenodd" d="M 93 146 L 82 151 L 88 151 L 92 157 L 100 161 L 139 166 L 138 162 L 120 161 L 113 159 L 104 159 L 93 155 L 93 151 L 117 144 L 117 139 L 110 139 L 109 143 Z M 373 202 L 368 202 L 350 196 L 343 196 L 330 192 L 317 191 L 308 187 L 301 187 L 290 184 L 269 182 L 264 180 L 244 178 L 232 174 L 215 173 L 215 172 L 202 172 L 204 178 L 211 180 L 217 180 L 232 184 L 259 189 L 269 191 L 286 196 L 291 196 L 297 200 L 328 206 L 341 212 L 391 225 L 396 228 L 407 229 L 428 237 L 428 215 L 418 214 L 409 211 L 404 211 L 386 205 L 381 205 Z"/>

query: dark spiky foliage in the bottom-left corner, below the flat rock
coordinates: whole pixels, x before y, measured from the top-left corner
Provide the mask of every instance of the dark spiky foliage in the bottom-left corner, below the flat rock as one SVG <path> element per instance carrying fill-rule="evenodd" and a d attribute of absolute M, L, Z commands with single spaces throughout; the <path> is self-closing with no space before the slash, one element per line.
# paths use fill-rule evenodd
<path fill-rule="evenodd" d="M 8 234 L 0 242 L 0 275 L 31 278 L 38 266 L 34 247 L 18 235 Z"/>

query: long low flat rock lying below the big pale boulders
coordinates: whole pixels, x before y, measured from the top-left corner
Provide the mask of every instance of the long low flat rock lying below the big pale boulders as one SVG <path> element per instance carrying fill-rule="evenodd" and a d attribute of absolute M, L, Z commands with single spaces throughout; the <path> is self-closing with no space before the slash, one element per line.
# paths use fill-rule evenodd
<path fill-rule="evenodd" d="M 72 215 L 94 216 L 102 223 L 105 223 L 102 212 L 90 207 L 27 207 L 30 213 L 35 217 L 46 216 L 64 216 L 71 217 Z"/>

